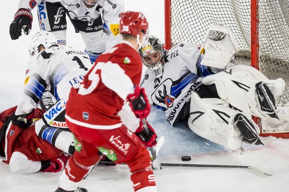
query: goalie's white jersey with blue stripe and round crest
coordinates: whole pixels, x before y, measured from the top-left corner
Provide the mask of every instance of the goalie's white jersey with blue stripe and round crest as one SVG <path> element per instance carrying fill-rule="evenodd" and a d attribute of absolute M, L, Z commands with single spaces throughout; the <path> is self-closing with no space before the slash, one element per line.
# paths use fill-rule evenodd
<path fill-rule="evenodd" d="M 163 74 L 156 78 L 147 69 L 141 87 L 145 89 L 149 102 L 162 109 L 167 122 L 173 126 L 182 115 L 182 107 L 190 100 L 194 89 L 201 85 L 201 76 L 212 74 L 200 64 L 204 49 L 188 43 L 171 48 L 164 58 Z"/>

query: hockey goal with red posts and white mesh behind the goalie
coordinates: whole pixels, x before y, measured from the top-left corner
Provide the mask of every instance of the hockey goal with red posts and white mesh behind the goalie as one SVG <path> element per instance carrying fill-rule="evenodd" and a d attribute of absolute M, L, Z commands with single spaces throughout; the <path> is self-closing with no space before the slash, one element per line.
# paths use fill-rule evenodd
<path fill-rule="evenodd" d="M 269 79 L 285 80 L 285 92 L 277 102 L 289 103 L 288 0 L 165 0 L 166 48 L 181 42 L 202 45 L 214 23 L 232 29 L 239 61 L 247 60 Z M 289 133 L 266 129 L 261 136 L 289 138 Z"/>

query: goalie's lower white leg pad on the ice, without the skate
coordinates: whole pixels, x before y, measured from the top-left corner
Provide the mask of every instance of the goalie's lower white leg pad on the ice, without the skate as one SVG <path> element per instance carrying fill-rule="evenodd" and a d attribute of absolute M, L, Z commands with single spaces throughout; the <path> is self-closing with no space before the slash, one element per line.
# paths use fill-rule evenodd
<path fill-rule="evenodd" d="M 188 125 L 197 135 L 234 150 L 242 145 L 240 131 L 232 126 L 237 113 L 222 99 L 192 93 Z"/>

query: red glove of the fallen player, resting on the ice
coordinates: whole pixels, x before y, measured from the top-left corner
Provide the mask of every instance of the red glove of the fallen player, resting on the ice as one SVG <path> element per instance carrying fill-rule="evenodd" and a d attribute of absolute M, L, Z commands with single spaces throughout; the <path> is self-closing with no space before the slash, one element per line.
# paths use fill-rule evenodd
<path fill-rule="evenodd" d="M 53 172 L 53 173 L 59 172 L 59 171 L 64 169 L 69 157 L 70 157 L 69 154 L 63 153 L 58 158 L 51 159 L 50 160 L 50 163 L 51 163 L 50 166 L 44 170 L 41 170 L 41 171 L 42 172 Z"/>

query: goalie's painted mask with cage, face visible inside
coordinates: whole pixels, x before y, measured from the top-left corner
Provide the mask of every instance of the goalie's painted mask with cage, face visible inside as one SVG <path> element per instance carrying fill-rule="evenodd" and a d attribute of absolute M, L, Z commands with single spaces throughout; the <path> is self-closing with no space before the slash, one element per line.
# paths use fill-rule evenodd
<path fill-rule="evenodd" d="M 155 77 L 162 76 L 162 61 L 165 51 L 163 46 L 164 44 L 157 37 L 150 35 L 139 49 L 144 65 L 151 70 Z"/>

